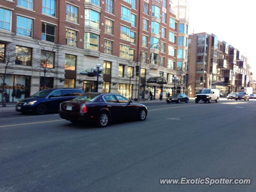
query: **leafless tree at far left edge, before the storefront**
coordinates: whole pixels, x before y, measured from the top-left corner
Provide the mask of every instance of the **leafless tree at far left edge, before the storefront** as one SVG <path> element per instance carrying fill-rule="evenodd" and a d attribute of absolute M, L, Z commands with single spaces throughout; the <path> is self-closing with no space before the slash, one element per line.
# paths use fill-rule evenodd
<path fill-rule="evenodd" d="M 15 60 L 17 56 L 22 56 L 24 53 L 22 52 L 16 52 L 16 46 L 13 44 L 8 44 L 9 47 L 6 49 L 6 52 L 0 50 L 0 55 L 4 60 L 4 63 L 0 65 L 0 71 L 3 71 L 2 74 L 0 74 L 0 78 L 2 79 L 2 85 L 1 85 L 1 92 L 2 92 L 2 107 L 5 107 L 6 104 L 4 103 L 4 92 L 5 92 L 5 81 L 6 81 L 6 76 L 8 74 L 11 74 L 12 72 L 8 72 L 8 68 L 12 65 L 15 64 Z"/>

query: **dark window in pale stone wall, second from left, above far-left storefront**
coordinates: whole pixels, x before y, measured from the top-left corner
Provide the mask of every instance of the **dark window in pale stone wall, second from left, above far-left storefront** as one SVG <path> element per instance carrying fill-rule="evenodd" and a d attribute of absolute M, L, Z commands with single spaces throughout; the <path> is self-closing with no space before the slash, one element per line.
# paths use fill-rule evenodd
<path fill-rule="evenodd" d="M 16 46 L 16 65 L 31 66 L 32 48 Z"/>

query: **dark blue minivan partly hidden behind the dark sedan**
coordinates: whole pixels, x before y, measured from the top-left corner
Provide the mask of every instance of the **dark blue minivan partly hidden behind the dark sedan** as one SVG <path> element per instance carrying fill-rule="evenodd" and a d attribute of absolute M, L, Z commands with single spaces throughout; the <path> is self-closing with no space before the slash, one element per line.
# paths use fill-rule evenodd
<path fill-rule="evenodd" d="M 40 90 L 34 95 L 17 102 L 16 111 L 22 113 L 36 112 L 39 115 L 49 111 L 58 111 L 61 102 L 72 100 L 82 94 L 84 94 L 84 91 L 78 88 L 53 88 Z"/>

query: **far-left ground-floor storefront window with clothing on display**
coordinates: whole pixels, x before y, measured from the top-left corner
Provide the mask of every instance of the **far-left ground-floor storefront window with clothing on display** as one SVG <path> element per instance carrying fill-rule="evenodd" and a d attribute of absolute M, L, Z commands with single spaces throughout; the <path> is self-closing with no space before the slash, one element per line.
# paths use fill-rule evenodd
<path fill-rule="evenodd" d="M 3 74 L 0 74 L 0 89 L 3 86 Z M 17 102 L 30 96 L 30 76 L 6 75 L 4 102 Z M 0 94 L 2 101 L 2 94 Z"/>

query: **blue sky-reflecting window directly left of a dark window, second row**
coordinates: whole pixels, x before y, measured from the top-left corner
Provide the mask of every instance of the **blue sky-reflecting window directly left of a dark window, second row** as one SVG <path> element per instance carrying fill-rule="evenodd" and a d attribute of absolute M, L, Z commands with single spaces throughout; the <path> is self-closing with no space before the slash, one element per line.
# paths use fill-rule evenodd
<path fill-rule="evenodd" d="M 17 16 L 17 29 L 16 34 L 21 36 L 32 37 L 32 30 L 33 30 L 33 20 Z"/>

